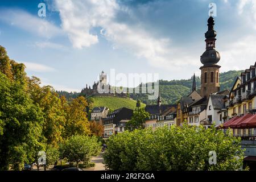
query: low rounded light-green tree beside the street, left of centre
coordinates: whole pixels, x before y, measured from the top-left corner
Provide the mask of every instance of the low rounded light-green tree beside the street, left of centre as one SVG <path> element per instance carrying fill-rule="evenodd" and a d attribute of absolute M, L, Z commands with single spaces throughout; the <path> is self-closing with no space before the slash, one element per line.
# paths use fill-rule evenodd
<path fill-rule="evenodd" d="M 67 158 L 69 162 L 79 162 L 88 164 L 92 156 L 100 154 L 101 144 L 96 137 L 75 135 L 67 139 L 60 146 L 61 158 Z"/>

